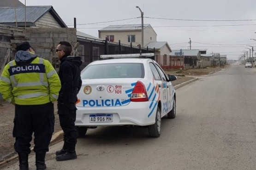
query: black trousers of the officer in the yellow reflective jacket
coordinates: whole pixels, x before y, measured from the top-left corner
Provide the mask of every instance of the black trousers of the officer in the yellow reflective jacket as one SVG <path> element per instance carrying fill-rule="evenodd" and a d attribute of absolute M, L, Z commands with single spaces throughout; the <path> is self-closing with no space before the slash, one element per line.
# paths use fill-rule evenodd
<path fill-rule="evenodd" d="M 15 105 L 13 137 L 17 153 L 30 153 L 34 132 L 34 152 L 48 152 L 54 132 L 54 104 Z"/>

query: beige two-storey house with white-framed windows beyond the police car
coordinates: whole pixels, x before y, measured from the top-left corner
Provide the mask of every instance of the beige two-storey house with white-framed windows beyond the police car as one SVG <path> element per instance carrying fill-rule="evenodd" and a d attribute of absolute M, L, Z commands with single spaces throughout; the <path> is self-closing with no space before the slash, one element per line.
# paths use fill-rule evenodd
<path fill-rule="evenodd" d="M 106 28 L 98 30 L 100 39 L 107 39 L 111 42 L 120 42 L 126 45 L 141 45 L 142 44 L 142 27 L 141 24 L 129 25 L 109 25 Z M 143 28 L 143 47 L 149 42 L 156 41 L 157 34 L 150 24 L 144 24 Z"/>

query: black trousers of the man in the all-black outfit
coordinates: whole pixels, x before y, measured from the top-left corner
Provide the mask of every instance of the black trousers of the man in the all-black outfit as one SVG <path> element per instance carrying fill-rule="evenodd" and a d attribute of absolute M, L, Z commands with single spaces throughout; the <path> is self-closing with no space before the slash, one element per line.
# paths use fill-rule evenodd
<path fill-rule="evenodd" d="M 75 127 L 77 108 L 75 103 L 58 103 L 60 126 L 64 132 L 64 149 L 75 150 L 77 130 Z"/>

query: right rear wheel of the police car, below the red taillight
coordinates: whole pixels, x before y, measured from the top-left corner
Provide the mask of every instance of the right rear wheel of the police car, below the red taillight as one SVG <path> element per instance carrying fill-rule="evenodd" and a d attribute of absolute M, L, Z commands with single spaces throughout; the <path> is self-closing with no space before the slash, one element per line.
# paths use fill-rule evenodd
<path fill-rule="evenodd" d="M 149 126 L 149 136 L 159 137 L 161 135 L 161 110 L 159 107 L 156 109 L 155 124 Z"/>

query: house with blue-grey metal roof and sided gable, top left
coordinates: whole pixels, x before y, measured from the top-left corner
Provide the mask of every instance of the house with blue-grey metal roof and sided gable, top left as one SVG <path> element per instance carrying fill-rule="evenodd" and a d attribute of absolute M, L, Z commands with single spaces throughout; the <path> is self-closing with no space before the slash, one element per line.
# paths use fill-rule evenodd
<path fill-rule="evenodd" d="M 18 27 L 67 28 L 53 6 L 0 7 L 0 23 Z"/>

